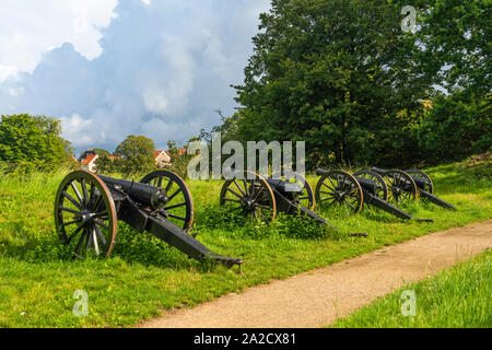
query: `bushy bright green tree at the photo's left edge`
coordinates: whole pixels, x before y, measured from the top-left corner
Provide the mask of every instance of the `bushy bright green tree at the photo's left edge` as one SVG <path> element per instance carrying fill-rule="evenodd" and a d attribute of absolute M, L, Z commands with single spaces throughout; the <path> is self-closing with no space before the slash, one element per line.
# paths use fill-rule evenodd
<path fill-rule="evenodd" d="M 2 116 L 0 161 L 28 171 L 52 171 L 67 162 L 71 147 L 60 120 L 27 114 Z"/>

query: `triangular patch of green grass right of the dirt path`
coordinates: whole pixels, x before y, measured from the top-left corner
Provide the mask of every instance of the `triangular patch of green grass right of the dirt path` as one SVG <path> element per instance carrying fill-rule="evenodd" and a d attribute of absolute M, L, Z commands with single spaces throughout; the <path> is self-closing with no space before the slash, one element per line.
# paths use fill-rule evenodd
<path fill-rule="evenodd" d="M 492 252 L 442 271 L 433 278 L 409 284 L 352 315 L 333 328 L 490 328 L 492 327 Z M 407 311 L 402 292 L 415 296 L 414 316 Z"/>

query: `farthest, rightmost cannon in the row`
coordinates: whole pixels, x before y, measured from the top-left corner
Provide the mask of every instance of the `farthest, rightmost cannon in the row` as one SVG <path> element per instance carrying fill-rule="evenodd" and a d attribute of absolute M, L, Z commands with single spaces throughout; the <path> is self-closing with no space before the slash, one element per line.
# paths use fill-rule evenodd
<path fill-rule="evenodd" d="M 390 197 L 397 202 L 420 197 L 436 206 L 456 210 L 454 206 L 434 195 L 434 184 L 431 177 L 418 168 L 398 171 L 372 167 L 371 171 L 386 178 Z"/>

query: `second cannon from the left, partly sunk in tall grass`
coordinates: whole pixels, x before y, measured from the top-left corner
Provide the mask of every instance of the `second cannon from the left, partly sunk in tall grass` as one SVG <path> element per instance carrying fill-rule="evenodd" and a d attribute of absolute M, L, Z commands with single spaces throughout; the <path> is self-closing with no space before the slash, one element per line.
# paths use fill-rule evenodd
<path fill-rule="evenodd" d="M 284 171 L 263 177 L 249 171 L 227 172 L 233 178 L 222 186 L 220 205 L 231 212 L 239 212 L 260 222 L 273 221 L 277 212 L 304 215 L 338 230 L 313 211 L 313 188 L 301 174 Z"/>

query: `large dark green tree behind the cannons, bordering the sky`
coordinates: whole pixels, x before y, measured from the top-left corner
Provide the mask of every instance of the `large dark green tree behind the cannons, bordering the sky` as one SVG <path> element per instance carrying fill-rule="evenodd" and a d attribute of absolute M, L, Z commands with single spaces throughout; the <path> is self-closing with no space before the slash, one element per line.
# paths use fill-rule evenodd
<path fill-rule="evenodd" d="M 400 10 L 385 0 L 273 0 L 235 86 L 236 138 L 305 140 L 308 164 L 380 160 L 390 150 L 375 140 L 400 127 L 387 120 L 420 109 L 430 86 Z"/>

